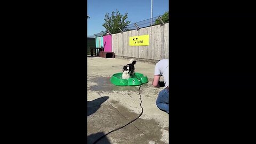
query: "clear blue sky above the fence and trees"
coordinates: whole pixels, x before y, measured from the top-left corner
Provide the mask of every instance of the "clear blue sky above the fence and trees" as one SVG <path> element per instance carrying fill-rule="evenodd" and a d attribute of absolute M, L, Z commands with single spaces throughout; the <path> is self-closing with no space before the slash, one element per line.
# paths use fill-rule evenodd
<path fill-rule="evenodd" d="M 119 13 L 128 13 L 126 20 L 131 23 L 151 18 L 151 0 L 87 0 L 87 35 L 94 35 L 105 30 L 105 14 L 118 9 Z M 169 0 L 153 0 L 153 18 L 169 11 Z"/>

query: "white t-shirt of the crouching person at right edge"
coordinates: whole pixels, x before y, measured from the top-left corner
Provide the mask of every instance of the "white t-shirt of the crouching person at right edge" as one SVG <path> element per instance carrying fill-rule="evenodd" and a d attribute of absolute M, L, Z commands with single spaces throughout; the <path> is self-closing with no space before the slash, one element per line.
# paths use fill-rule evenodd
<path fill-rule="evenodd" d="M 164 88 L 169 86 L 169 59 L 163 59 L 156 63 L 155 75 L 164 77 Z"/>

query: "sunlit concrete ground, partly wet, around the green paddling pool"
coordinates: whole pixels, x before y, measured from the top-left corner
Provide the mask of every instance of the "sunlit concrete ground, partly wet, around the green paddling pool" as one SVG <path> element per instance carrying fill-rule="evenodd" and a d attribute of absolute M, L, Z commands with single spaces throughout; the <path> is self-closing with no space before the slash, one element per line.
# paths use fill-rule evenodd
<path fill-rule="evenodd" d="M 110 77 L 121 73 L 127 59 L 87 57 L 87 142 L 124 126 L 137 118 L 139 86 L 116 86 Z M 135 72 L 148 76 L 140 88 L 143 114 L 131 124 L 108 134 L 97 143 L 169 143 L 169 115 L 156 107 L 158 92 L 151 85 L 154 64 L 137 61 Z M 161 78 L 162 80 L 162 78 Z"/>

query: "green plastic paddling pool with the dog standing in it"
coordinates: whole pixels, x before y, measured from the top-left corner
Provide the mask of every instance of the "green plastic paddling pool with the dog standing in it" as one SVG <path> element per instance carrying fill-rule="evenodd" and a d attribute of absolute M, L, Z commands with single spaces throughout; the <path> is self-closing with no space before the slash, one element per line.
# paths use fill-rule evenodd
<path fill-rule="evenodd" d="M 144 83 L 148 83 L 148 77 L 144 76 L 140 73 L 134 73 L 133 77 L 130 77 L 128 79 L 122 78 L 123 73 L 116 73 L 110 78 L 110 82 L 114 85 L 120 85 L 120 86 L 135 86 L 135 85 L 142 85 Z"/>

